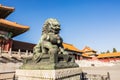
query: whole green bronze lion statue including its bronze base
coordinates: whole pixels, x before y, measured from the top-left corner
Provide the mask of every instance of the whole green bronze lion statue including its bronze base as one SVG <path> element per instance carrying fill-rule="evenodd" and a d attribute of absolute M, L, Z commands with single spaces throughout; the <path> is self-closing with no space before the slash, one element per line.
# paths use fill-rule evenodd
<path fill-rule="evenodd" d="M 43 25 L 41 38 L 33 49 L 33 57 L 24 60 L 21 68 L 43 70 L 78 67 L 74 56 L 68 55 L 63 48 L 60 30 L 58 20 L 47 19 Z"/>

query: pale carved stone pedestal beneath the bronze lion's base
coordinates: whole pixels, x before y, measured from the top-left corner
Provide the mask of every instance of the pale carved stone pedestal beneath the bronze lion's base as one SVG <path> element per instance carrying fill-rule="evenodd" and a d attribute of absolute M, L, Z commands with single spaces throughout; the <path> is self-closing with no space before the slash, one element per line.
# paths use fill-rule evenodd
<path fill-rule="evenodd" d="M 18 80 L 80 80 L 80 68 L 57 70 L 16 70 Z"/>

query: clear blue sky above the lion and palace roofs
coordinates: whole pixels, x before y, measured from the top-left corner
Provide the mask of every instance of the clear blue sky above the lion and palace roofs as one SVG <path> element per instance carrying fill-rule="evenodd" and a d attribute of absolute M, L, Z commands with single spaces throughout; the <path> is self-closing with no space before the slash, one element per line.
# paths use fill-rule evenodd
<path fill-rule="evenodd" d="M 56 18 L 64 42 L 80 50 L 89 46 L 98 53 L 120 51 L 119 0 L 0 0 L 0 4 L 15 7 L 8 20 L 30 26 L 15 40 L 37 43 L 44 21 Z"/>

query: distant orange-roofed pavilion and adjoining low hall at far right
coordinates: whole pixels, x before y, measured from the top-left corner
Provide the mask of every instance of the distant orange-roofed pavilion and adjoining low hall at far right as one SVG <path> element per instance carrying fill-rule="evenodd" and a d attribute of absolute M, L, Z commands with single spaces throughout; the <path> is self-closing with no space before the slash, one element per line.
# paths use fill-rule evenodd
<path fill-rule="evenodd" d="M 120 52 L 96 54 L 96 51 L 86 46 L 82 53 L 81 60 L 99 60 L 102 62 L 120 61 Z"/>

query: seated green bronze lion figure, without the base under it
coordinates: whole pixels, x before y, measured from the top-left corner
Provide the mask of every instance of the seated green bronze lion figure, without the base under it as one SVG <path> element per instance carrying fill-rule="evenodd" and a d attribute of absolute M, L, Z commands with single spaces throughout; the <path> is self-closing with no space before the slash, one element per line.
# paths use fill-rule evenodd
<path fill-rule="evenodd" d="M 38 62 L 44 54 L 67 54 L 63 48 L 63 40 L 59 35 L 58 20 L 49 18 L 45 21 L 39 43 L 34 47 L 34 59 Z"/>

